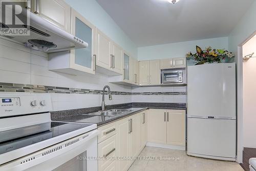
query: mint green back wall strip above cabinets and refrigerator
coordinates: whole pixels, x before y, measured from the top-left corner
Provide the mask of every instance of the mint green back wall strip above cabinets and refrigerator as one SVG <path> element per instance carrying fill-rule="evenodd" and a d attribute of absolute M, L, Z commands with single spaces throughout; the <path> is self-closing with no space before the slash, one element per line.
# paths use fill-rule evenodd
<path fill-rule="evenodd" d="M 212 48 L 228 49 L 228 39 L 227 37 L 219 37 L 214 39 L 139 47 L 138 60 L 143 61 L 184 57 L 189 51 L 196 52 L 196 45 L 201 48 L 211 46 Z"/>

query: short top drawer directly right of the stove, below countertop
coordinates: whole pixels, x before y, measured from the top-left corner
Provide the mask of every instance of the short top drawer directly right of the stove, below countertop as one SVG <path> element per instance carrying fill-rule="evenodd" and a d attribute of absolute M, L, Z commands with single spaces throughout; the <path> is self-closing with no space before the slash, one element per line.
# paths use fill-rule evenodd
<path fill-rule="evenodd" d="M 104 141 L 116 134 L 116 124 L 111 123 L 111 124 L 99 127 L 98 130 L 99 130 L 98 143 L 100 143 L 101 141 Z"/>

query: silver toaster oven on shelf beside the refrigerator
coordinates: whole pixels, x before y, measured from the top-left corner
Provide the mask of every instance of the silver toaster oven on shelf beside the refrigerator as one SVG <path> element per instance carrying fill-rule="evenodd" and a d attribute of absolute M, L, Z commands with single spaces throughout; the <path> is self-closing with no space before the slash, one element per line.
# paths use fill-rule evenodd
<path fill-rule="evenodd" d="M 182 83 L 183 71 L 162 71 L 162 84 Z"/>

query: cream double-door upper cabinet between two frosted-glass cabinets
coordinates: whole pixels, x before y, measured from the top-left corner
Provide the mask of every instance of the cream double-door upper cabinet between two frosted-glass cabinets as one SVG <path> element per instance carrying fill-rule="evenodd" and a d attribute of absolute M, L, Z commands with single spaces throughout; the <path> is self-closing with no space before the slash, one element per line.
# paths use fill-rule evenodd
<path fill-rule="evenodd" d="M 123 50 L 99 29 L 96 29 L 96 72 L 122 74 Z"/>

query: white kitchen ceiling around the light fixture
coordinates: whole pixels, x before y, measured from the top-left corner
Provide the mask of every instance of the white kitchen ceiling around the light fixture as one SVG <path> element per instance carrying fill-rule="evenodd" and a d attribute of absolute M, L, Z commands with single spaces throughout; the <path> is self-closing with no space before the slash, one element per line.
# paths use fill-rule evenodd
<path fill-rule="evenodd" d="M 142 47 L 228 36 L 255 0 L 96 1 Z"/>

